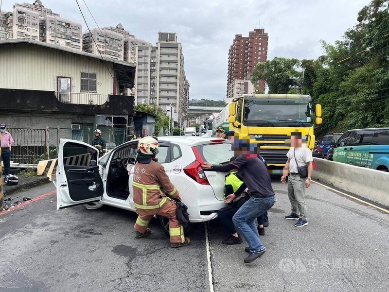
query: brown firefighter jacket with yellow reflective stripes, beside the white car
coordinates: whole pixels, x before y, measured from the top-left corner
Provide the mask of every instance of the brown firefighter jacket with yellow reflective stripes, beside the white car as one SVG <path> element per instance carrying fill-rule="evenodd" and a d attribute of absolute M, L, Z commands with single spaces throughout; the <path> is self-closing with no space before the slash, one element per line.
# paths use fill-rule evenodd
<path fill-rule="evenodd" d="M 135 207 L 138 209 L 158 209 L 168 200 L 166 194 L 172 198 L 178 196 L 163 166 L 153 160 L 149 164 L 139 161 L 135 164 L 132 187 Z"/>

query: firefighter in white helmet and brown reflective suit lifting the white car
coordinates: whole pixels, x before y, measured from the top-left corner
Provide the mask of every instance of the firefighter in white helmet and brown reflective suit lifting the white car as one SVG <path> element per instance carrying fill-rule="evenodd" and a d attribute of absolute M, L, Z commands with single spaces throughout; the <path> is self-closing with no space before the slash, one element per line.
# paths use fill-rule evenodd
<path fill-rule="evenodd" d="M 176 202 L 171 199 L 181 199 L 181 195 L 171 183 L 163 166 L 155 161 L 158 148 L 158 141 L 149 136 L 141 138 L 138 144 L 132 183 L 133 199 L 139 215 L 134 226 L 135 238 L 150 235 L 149 222 L 154 215 L 160 215 L 169 218 L 171 246 L 186 246 L 191 240 L 184 236 L 184 229 L 176 216 Z"/>

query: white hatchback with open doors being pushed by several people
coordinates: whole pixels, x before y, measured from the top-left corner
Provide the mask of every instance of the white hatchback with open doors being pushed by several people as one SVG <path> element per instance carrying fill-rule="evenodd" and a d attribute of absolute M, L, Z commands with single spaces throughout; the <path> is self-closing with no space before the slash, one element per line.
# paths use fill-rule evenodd
<path fill-rule="evenodd" d="M 233 156 L 228 140 L 173 136 L 160 137 L 158 162 L 188 206 L 192 223 L 209 221 L 223 208 L 225 175 L 204 171 L 201 164 L 228 163 Z M 135 211 L 132 180 L 138 140 L 115 147 L 99 160 L 99 151 L 87 143 L 61 139 L 56 172 L 57 209 L 103 205 Z M 97 163 L 98 162 L 98 163 Z M 160 217 L 168 232 L 168 220 Z"/>

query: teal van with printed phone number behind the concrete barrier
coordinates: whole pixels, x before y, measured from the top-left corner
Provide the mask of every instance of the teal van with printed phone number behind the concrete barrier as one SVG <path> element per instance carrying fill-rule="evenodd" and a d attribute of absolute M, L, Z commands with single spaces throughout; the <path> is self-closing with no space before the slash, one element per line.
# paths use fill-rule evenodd
<path fill-rule="evenodd" d="M 334 161 L 389 171 L 389 128 L 356 129 L 336 142 Z"/>

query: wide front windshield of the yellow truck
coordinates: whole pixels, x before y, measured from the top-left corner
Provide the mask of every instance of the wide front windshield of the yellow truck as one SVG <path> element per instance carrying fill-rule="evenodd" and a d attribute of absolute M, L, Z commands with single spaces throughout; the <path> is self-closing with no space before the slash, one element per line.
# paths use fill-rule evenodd
<path fill-rule="evenodd" d="M 311 103 L 303 100 L 246 100 L 243 124 L 246 126 L 312 126 Z"/>

